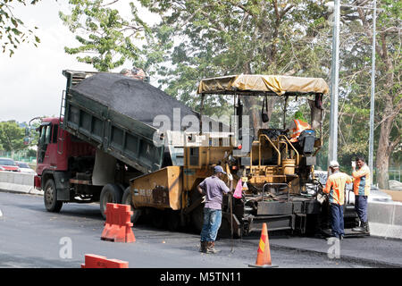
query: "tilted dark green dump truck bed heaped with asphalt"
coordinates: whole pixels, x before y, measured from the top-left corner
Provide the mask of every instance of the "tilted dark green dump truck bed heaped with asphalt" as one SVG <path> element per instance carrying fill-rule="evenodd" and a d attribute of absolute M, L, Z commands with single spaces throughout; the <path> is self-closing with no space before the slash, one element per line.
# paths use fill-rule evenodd
<path fill-rule="evenodd" d="M 63 71 L 63 129 L 140 172 L 162 168 L 165 147 L 157 147 L 153 121 L 162 115 L 172 126 L 196 115 L 188 106 L 141 80 L 109 72 Z"/>

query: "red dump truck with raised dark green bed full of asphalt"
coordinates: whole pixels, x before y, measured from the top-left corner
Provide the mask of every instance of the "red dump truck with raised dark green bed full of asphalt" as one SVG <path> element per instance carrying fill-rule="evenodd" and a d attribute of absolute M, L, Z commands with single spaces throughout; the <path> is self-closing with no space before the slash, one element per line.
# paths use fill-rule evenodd
<path fill-rule="evenodd" d="M 119 73 L 63 75 L 61 114 L 42 119 L 38 127 L 35 187 L 44 190 L 50 212 L 63 203 L 99 201 L 105 217 L 106 204 L 121 203 L 130 179 L 172 164 L 174 148 L 153 142 L 153 118 L 172 117 L 173 108 L 182 116 L 195 113 L 147 82 Z"/>

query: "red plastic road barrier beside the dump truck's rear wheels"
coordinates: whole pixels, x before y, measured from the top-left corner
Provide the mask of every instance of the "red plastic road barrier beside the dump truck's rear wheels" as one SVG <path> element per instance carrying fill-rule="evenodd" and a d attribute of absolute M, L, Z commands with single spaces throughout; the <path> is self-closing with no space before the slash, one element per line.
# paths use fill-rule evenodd
<path fill-rule="evenodd" d="M 134 242 L 136 238 L 131 230 L 132 223 L 130 216 L 132 214 L 130 206 L 120 204 L 106 205 L 106 223 L 102 231 L 101 240 L 114 242 Z"/>

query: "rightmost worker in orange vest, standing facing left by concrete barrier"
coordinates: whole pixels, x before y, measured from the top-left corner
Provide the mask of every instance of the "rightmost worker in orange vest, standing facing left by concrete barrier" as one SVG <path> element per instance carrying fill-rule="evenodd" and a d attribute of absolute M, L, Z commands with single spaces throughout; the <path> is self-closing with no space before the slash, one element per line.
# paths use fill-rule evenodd
<path fill-rule="evenodd" d="M 357 166 L 357 170 L 356 170 Z M 360 226 L 352 229 L 370 234 L 367 218 L 367 199 L 371 188 L 370 169 L 364 162 L 364 157 L 357 156 L 356 164 L 352 164 L 353 172 L 353 191 L 355 193 L 355 209 L 360 219 Z"/>

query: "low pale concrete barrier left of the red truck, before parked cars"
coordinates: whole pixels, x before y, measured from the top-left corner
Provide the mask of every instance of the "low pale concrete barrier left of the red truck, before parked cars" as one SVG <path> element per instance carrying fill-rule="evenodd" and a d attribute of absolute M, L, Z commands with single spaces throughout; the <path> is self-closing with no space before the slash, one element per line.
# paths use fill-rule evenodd
<path fill-rule="evenodd" d="M 34 188 L 34 175 L 25 172 L 0 171 L 0 190 L 28 194 L 43 193 Z"/>

